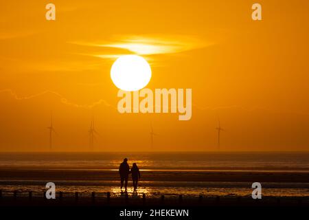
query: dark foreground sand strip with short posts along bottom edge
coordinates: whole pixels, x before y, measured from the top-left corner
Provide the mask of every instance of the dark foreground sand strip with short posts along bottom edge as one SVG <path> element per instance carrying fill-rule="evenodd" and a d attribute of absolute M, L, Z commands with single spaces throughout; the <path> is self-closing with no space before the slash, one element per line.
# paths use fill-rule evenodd
<path fill-rule="evenodd" d="M 2 197 L 0 206 L 293 206 L 309 207 L 308 197 L 165 197 L 165 198 L 142 198 L 142 197 L 66 197 L 62 199 L 44 199 L 43 197 Z"/>

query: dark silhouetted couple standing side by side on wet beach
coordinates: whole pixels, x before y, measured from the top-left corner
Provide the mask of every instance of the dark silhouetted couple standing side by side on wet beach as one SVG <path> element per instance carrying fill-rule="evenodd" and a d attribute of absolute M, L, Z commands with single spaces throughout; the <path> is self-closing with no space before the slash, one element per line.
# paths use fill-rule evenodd
<path fill-rule="evenodd" d="M 141 178 L 141 174 L 139 173 L 139 168 L 136 163 L 133 164 L 131 170 L 130 166 L 128 166 L 128 159 L 124 158 L 124 162 L 122 162 L 119 166 L 119 175 L 122 186 L 126 189 L 128 186 L 128 175 L 131 173 L 133 180 L 134 190 L 137 190 L 137 182 Z M 122 186 L 120 187 L 122 189 Z"/>

